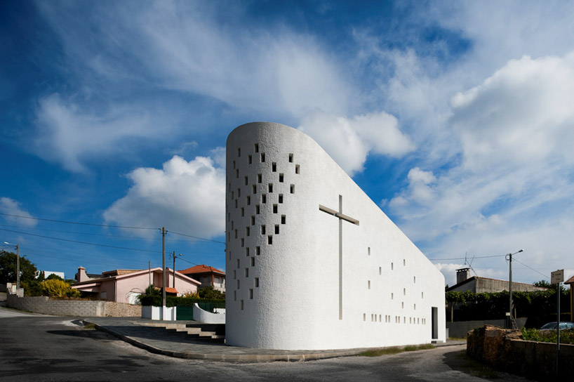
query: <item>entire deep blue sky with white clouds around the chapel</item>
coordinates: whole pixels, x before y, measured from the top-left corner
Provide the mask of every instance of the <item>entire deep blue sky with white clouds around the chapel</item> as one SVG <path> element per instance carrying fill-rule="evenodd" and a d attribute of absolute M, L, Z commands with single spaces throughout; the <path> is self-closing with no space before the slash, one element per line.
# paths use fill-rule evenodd
<path fill-rule="evenodd" d="M 573 17 L 570 1 L 2 1 L 0 241 L 73 277 L 160 266 L 165 227 L 176 268 L 225 269 L 225 140 L 276 121 L 448 284 L 465 254 L 506 279 L 519 249 L 515 281 L 570 277 Z"/>

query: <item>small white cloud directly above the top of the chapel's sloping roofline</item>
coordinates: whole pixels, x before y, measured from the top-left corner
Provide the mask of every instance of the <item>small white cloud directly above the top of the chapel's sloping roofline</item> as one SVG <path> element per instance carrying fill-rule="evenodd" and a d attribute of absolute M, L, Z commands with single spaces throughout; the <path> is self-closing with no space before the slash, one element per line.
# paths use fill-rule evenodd
<path fill-rule="evenodd" d="M 398 125 L 396 118 L 386 112 L 352 119 L 314 112 L 302 119 L 298 129 L 314 138 L 352 176 L 362 171 L 370 153 L 401 157 L 414 150 Z"/>

